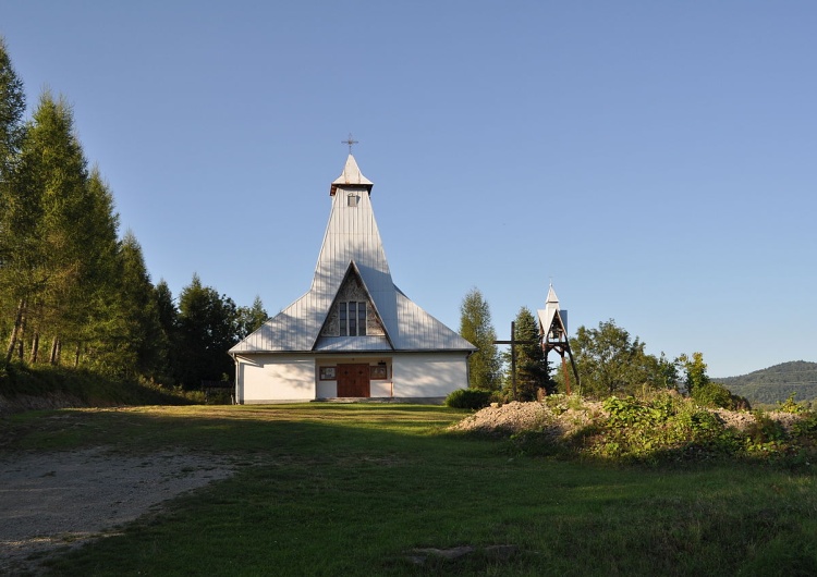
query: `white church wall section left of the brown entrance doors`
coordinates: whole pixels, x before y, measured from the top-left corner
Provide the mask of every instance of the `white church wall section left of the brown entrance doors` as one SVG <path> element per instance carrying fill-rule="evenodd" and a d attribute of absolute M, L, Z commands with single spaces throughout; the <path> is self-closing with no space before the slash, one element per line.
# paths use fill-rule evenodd
<path fill-rule="evenodd" d="M 237 357 L 240 404 L 312 401 L 315 398 L 315 358 L 295 355 Z"/>

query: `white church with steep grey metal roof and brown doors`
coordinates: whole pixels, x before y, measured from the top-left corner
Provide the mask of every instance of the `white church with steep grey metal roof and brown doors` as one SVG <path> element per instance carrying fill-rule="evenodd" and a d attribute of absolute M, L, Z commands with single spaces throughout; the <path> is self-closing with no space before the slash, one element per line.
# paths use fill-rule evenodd
<path fill-rule="evenodd" d="M 441 403 L 467 388 L 476 347 L 394 285 L 371 187 L 350 149 L 309 291 L 229 352 L 237 403 Z"/>

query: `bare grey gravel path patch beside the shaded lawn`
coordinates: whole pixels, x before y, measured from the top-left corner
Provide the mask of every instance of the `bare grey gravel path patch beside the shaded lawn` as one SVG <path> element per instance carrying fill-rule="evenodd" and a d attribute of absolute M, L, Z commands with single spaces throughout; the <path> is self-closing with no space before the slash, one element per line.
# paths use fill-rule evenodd
<path fill-rule="evenodd" d="M 0 575 L 36 572 L 49 553 L 111 532 L 159 503 L 232 475 L 223 457 L 123 456 L 102 447 L 0 456 Z M 39 556 L 39 555 L 38 555 Z"/>

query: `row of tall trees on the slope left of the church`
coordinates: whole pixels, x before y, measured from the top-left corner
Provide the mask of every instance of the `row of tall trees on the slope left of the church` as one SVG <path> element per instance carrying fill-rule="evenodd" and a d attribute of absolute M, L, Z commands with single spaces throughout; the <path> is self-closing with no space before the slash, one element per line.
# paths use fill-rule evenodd
<path fill-rule="evenodd" d="M 23 82 L 0 37 L 0 369 L 87 369 L 193 389 L 232 373 L 227 351 L 257 329 L 194 274 L 178 303 L 154 285 L 142 247 L 120 236 L 113 195 L 88 167 L 71 106 L 45 90 L 26 119 Z"/>

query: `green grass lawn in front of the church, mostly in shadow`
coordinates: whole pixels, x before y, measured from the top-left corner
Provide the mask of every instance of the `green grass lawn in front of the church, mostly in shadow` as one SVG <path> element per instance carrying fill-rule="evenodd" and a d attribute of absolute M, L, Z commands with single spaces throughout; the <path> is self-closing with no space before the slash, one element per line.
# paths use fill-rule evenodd
<path fill-rule="evenodd" d="M 617 467 L 515 455 L 406 405 L 141 407 L 16 415 L 4 451 L 109 445 L 231 455 L 232 478 L 58 575 L 814 575 L 810 472 L 745 463 Z M 498 558 L 486 547 L 515 545 Z M 453 562 L 415 548 L 472 545 Z"/>

